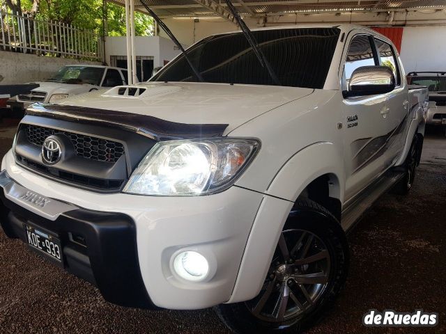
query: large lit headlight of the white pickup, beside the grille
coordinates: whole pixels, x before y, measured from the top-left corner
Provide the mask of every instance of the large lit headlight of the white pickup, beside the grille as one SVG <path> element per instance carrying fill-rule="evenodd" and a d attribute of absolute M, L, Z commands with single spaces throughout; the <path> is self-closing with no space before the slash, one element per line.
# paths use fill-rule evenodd
<path fill-rule="evenodd" d="M 259 146 L 259 141 L 238 138 L 157 143 L 123 191 L 157 196 L 216 193 L 231 186 Z"/>

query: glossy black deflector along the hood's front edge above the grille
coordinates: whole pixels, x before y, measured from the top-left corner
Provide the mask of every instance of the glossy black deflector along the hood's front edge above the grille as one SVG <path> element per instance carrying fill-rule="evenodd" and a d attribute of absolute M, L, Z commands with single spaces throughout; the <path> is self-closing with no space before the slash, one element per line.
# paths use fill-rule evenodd
<path fill-rule="evenodd" d="M 33 104 L 26 110 L 26 114 L 59 120 L 99 123 L 137 132 L 155 141 L 217 137 L 222 136 L 228 127 L 227 124 L 177 123 L 137 113 L 63 104 Z"/>

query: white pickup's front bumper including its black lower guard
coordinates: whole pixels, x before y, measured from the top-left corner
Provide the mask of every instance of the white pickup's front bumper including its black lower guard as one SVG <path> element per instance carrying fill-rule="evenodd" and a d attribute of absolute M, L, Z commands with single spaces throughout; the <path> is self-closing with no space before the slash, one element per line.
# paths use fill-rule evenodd
<path fill-rule="evenodd" d="M 94 245 L 91 248 L 90 244 L 87 245 L 91 252 L 87 250 L 84 253 L 84 259 L 88 257 L 90 261 L 89 277 L 82 276 L 79 271 L 73 272 L 74 267 L 68 271 L 90 281 L 94 278 L 107 300 L 120 305 L 151 307 L 153 303 L 160 308 L 190 310 L 208 308 L 233 299 L 240 263 L 263 194 L 237 186 L 212 196 L 178 198 L 95 193 L 36 175 L 18 166 L 12 152 L 6 154 L 1 168 L 24 188 L 75 207 L 74 210 L 62 210 L 54 217 L 45 217 L 41 212 L 32 212 L 26 203 L 8 202 L 4 199 L 4 189 L 0 189 L 3 193 L 1 200 L 13 216 L 36 221 L 36 225 L 47 226 L 55 232 L 60 230 L 61 234 L 72 227 L 91 233 Z M 11 225 L 8 220 L 4 221 Z M 109 228 L 107 223 L 110 221 L 116 224 L 116 228 L 112 225 Z M 18 225 L 20 230 L 20 223 Z M 8 226 L 6 230 L 9 233 L 11 229 Z M 101 226 L 105 227 L 104 234 L 98 232 Z M 15 228 L 10 235 L 14 236 L 17 231 Z M 120 254 L 121 246 L 114 244 L 118 242 L 114 238 L 122 233 L 127 234 L 126 255 Z M 105 241 L 103 235 L 112 241 Z M 90 241 L 87 239 L 87 242 Z M 109 247 L 111 255 L 101 247 Z M 174 255 L 185 250 L 204 255 L 209 260 L 213 276 L 202 282 L 179 278 L 171 264 Z M 116 263 L 115 258 L 118 259 Z M 124 260 L 128 263 L 123 263 Z M 69 267 L 70 262 L 67 263 Z M 88 265 L 83 267 L 89 269 Z M 121 273 L 130 269 L 134 271 L 130 282 L 124 280 L 125 277 L 115 282 Z M 138 271 L 144 286 L 142 292 Z M 259 277 L 259 280 L 263 278 Z M 137 303 L 133 302 L 134 299 L 121 301 L 113 295 L 120 289 L 123 289 L 122 297 L 144 298 Z"/>

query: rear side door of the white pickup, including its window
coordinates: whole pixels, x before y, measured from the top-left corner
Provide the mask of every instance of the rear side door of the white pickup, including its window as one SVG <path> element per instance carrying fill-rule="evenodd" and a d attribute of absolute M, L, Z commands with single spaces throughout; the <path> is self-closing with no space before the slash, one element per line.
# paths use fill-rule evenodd
<path fill-rule="evenodd" d="M 387 118 L 387 160 L 390 164 L 397 159 L 406 142 L 406 130 L 409 126 L 408 88 L 404 78 L 403 67 L 399 64 L 397 53 L 391 43 L 374 37 L 376 51 L 381 66 L 390 67 L 394 73 L 397 87 L 385 95 L 385 116 Z"/>

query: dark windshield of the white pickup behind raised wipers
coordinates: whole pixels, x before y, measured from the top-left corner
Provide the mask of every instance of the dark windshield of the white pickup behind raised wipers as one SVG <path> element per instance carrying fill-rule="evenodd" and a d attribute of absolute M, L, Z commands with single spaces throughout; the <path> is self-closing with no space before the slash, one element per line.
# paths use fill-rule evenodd
<path fill-rule="evenodd" d="M 323 88 L 339 38 L 337 28 L 252 31 L 282 86 Z M 274 85 L 243 33 L 215 35 L 186 50 L 204 81 Z M 178 56 L 151 81 L 196 81 L 184 56 Z"/>

